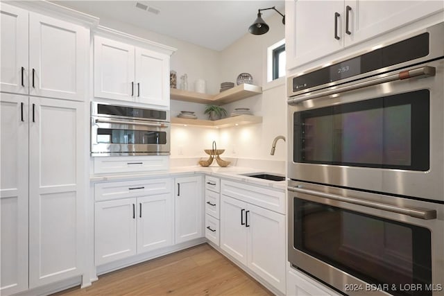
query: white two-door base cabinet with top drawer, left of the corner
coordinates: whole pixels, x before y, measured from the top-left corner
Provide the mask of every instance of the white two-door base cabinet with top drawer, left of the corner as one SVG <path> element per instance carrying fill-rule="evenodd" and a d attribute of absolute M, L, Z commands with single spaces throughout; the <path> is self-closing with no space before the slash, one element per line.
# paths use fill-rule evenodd
<path fill-rule="evenodd" d="M 162 182 L 160 182 L 162 181 Z M 169 193 L 146 195 L 149 186 L 169 184 L 159 182 L 114 182 L 96 184 L 97 188 L 127 186 L 137 198 L 120 198 L 96 202 L 95 209 L 95 263 L 102 265 L 128 256 L 173 245 L 173 197 Z M 151 183 L 151 184 L 150 184 Z M 153 188 L 152 192 L 159 191 Z M 103 191 L 103 190 L 102 190 Z M 96 192 L 102 192 L 99 189 Z M 106 191 L 103 191 L 106 192 Z M 101 196 L 96 196 L 96 200 Z"/>

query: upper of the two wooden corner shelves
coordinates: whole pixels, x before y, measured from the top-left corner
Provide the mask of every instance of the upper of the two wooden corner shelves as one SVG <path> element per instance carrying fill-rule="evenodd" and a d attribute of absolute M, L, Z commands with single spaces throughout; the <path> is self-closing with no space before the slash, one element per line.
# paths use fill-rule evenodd
<path fill-rule="evenodd" d="M 256 96 L 257 94 L 262 94 L 262 87 L 258 87 L 257 85 L 248 85 L 246 83 L 237 85 L 232 89 L 228 89 L 225 92 L 215 95 L 200 94 L 198 92 L 189 92 L 182 89 L 170 89 L 171 100 L 212 105 L 228 104 L 243 98 Z"/>

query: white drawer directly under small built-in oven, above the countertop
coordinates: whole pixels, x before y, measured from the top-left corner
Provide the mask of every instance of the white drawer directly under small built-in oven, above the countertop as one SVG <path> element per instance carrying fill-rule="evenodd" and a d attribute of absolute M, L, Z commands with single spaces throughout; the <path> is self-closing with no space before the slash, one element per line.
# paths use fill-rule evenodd
<path fill-rule="evenodd" d="M 94 157 L 95 174 L 162 171 L 168 168 L 168 156 Z"/>

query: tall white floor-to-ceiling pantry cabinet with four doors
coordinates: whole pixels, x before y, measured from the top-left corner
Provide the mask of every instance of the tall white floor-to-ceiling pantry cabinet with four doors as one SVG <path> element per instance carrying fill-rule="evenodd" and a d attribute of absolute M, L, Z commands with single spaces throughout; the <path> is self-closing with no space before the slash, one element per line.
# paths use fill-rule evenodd
<path fill-rule="evenodd" d="M 83 274 L 89 30 L 0 3 L 0 294 Z"/>

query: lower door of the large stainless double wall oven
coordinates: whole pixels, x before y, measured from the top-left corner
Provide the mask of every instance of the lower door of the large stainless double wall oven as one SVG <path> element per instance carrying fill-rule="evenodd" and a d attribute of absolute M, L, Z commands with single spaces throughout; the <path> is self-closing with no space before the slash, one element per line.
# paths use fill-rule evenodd
<path fill-rule="evenodd" d="M 289 261 L 348 295 L 444 295 L 444 205 L 290 182 Z"/>

